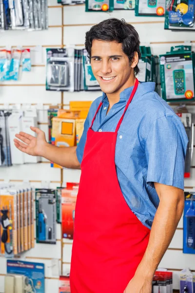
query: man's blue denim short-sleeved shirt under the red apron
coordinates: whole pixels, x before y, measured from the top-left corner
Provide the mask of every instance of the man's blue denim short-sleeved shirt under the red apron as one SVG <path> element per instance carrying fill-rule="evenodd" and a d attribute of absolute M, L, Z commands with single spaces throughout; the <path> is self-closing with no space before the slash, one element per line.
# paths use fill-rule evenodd
<path fill-rule="evenodd" d="M 122 194 L 137 218 L 150 229 L 159 204 L 154 182 L 184 189 L 184 160 L 188 144 L 180 119 L 154 89 L 155 83 L 138 85 L 118 130 L 115 154 Z M 92 103 L 77 147 L 80 163 L 87 130 L 99 103 L 102 101 L 103 105 L 92 129 L 115 131 L 132 90 L 133 87 L 126 88 L 107 115 L 109 102 L 106 94 Z"/>

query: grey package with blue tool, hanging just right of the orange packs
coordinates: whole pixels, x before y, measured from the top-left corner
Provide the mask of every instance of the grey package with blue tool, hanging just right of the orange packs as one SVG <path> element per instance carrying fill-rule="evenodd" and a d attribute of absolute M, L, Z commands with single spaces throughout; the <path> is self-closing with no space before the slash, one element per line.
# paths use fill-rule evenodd
<path fill-rule="evenodd" d="M 35 189 L 37 243 L 56 244 L 55 189 Z"/>

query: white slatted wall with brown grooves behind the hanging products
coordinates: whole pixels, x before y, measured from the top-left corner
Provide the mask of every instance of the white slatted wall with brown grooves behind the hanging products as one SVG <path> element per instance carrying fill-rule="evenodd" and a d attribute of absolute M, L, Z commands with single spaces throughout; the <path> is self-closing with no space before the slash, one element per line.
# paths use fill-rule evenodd
<path fill-rule="evenodd" d="M 57 0 L 49 0 L 49 29 L 47 31 L 5 31 L 0 34 L 0 46 L 6 45 L 30 47 L 32 49 L 32 71 L 20 75 L 18 82 L 3 82 L 0 84 L 0 104 L 38 104 L 39 127 L 48 136 L 47 111 L 49 105 L 69 105 L 70 101 L 95 100 L 100 92 L 55 92 L 45 90 L 45 62 L 36 63 L 36 50 L 42 46 L 43 54 L 46 47 L 63 47 L 74 44 L 83 47 L 85 32 L 99 21 L 110 17 L 124 18 L 135 26 L 140 36 L 141 45 L 150 45 L 155 55 L 169 51 L 172 45 L 192 42 L 195 49 L 195 34 L 193 32 L 172 32 L 164 30 L 164 18 L 135 17 L 134 11 L 113 11 L 112 13 L 86 13 L 84 5 L 60 6 Z M 21 68 L 20 68 L 21 69 Z M 189 111 L 195 113 L 195 103 Z M 195 142 L 194 142 L 195 145 Z M 56 188 L 62 182 L 78 182 L 79 170 L 60 170 L 51 168 L 49 162 L 42 159 L 37 164 L 25 164 L 0 168 L 0 180 L 29 180 L 36 187 L 41 187 L 41 181 L 50 181 L 50 187 Z M 195 155 L 191 169 L 191 178 L 185 180 L 185 190 L 195 187 Z M 175 236 L 165 253 L 160 267 L 174 272 L 174 289 L 178 289 L 178 272 L 185 267 L 195 271 L 195 255 L 183 254 L 183 220 L 179 222 Z M 58 270 L 54 270 L 53 259 L 59 261 L 59 273 L 70 269 L 72 241 L 61 239 L 61 227 L 57 224 L 57 244 L 36 244 L 34 249 L 22 254 L 22 259 L 38 261 L 45 264 L 45 292 L 58 293 Z M 4 275 L 6 259 L 0 257 L 0 293 L 4 292 Z"/>

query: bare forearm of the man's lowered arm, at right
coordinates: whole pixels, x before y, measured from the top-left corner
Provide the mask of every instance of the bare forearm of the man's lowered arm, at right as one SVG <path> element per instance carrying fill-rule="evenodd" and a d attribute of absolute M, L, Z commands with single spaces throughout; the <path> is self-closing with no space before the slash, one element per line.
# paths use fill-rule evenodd
<path fill-rule="evenodd" d="M 176 227 L 183 212 L 184 200 L 173 199 L 172 194 L 167 194 L 167 198 L 162 198 L 156 211 L 152 225 L 148 247 L 143 256 L 138 272 L 153 275 L 158 267 L 165 251 L 174 236 Z"/>

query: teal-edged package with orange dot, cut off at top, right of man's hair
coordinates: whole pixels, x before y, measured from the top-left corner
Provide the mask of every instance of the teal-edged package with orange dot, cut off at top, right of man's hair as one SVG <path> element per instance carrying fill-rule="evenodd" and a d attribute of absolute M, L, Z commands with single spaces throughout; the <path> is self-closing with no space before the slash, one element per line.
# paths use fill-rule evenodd
<path fill-rule="evenodd" d="M 136 0 L 136 16 L 164 16 L 166 0 Z"/>

